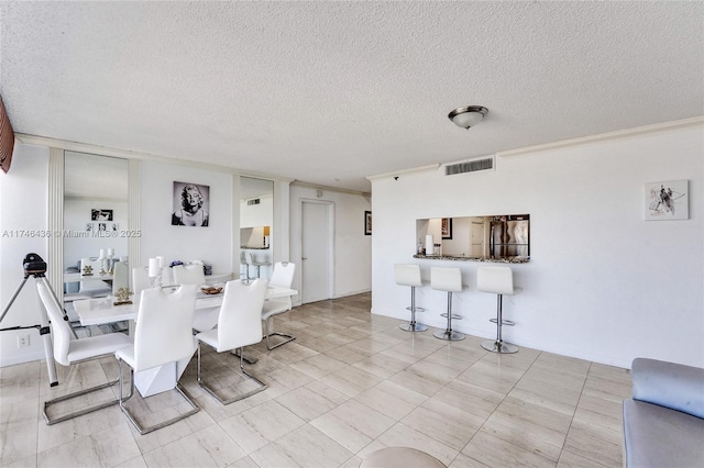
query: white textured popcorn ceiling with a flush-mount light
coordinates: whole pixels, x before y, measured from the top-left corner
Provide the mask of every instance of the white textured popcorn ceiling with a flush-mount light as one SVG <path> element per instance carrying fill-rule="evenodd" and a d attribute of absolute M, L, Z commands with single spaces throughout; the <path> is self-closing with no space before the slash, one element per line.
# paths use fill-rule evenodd
<path fill-rule="evenodd" d="M 16 133 L 353 190 L 704 114 L 704 3 L 0 2 Z M 470 131 L 447 118 L 480 104 Z"/>

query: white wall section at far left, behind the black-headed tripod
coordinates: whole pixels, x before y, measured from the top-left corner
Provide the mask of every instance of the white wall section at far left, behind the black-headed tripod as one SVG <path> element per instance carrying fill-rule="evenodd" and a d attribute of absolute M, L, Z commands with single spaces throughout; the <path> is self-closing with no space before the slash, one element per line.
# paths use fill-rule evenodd
<path fill-rule="evenodd" d="M 23 277 L 26 254 L 47 259 L 45 237 L 32 233 L 45 232 L 47 225 L 48 149 L 19 142 L 10 172 L 0 172 L 0 307 L 4 309 Z M 21 231 L 25 231 L 21 233 Z M 54 289 L 62 285 L 52 283 Z M 40 324 L 40 301 L 34 278 L 30 278 L 0 328 Z M 30 335 L 30 347 L 18 348 L 18 336 Z M 43 341 L 35 328 L 0 332 L 0 366 L 44 358 Z"/>

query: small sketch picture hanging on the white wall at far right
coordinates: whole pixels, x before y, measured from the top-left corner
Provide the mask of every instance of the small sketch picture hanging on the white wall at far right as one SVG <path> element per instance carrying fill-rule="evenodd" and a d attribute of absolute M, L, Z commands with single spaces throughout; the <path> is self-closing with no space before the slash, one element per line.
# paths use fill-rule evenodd
<path fill-rule="evenodd" d="M 689 220 L 689 181 L 646 183 L 646 220 Z"/>

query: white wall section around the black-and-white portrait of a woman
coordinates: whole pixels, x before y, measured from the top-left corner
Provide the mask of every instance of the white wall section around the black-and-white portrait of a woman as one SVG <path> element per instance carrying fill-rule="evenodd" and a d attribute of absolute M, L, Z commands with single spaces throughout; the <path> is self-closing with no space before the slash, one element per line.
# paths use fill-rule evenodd
<path fill-rule="evenodd" d="M 172 226 L 174 181 L 210 187 L 208 226 Z M 212 265 L 213 274 L 233 270 L 232 235 L 239 227 L 233 222 L 231 174 L 145 160 L 141 208 L 142 265 L 151 257 L 163 256 L 166 264 L 202 260 Z M 238 269 L 239 265 L 234 271 Z"/>

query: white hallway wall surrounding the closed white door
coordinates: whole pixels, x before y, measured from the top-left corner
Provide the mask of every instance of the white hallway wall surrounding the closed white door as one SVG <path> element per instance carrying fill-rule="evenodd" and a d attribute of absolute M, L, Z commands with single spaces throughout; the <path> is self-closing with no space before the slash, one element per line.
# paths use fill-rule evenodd
<path fill-rule="evenodd" d="M 367 197 L 334 190 L 290 186 L 290 258 L 301 261 L 301 200 L 334 203 L 334 283 L 333 298 L 352 296 L 372 289 L 372 237 L 364 235 L 364 211 L 371 210 Z M 375 213 L 373 213 L 375 214 Z M 374 218 L 376 220 L 376 218 Z M 294 288 L 300 290 L 300 269 L 297 268 Z M 294 298 L 300 301 L 300 296 Z"/>

